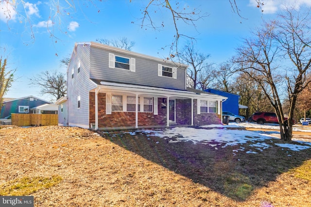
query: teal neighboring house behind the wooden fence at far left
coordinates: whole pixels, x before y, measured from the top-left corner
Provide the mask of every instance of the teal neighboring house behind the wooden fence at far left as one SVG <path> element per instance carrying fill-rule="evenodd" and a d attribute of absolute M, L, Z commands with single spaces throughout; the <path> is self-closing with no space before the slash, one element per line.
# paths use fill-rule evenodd
<path fill-rule="evenodd" d="M 15 99 L 10 98 L 4 100 L 6 101 L 3 101 L 0 118 L 7 117 L 11 115 L 11 113 L 30 113 L 30 109 L 34 107 L 43 104 L 51 104 L 49 101 L 37 98 L 35 96 L 26 96 Z"/>

